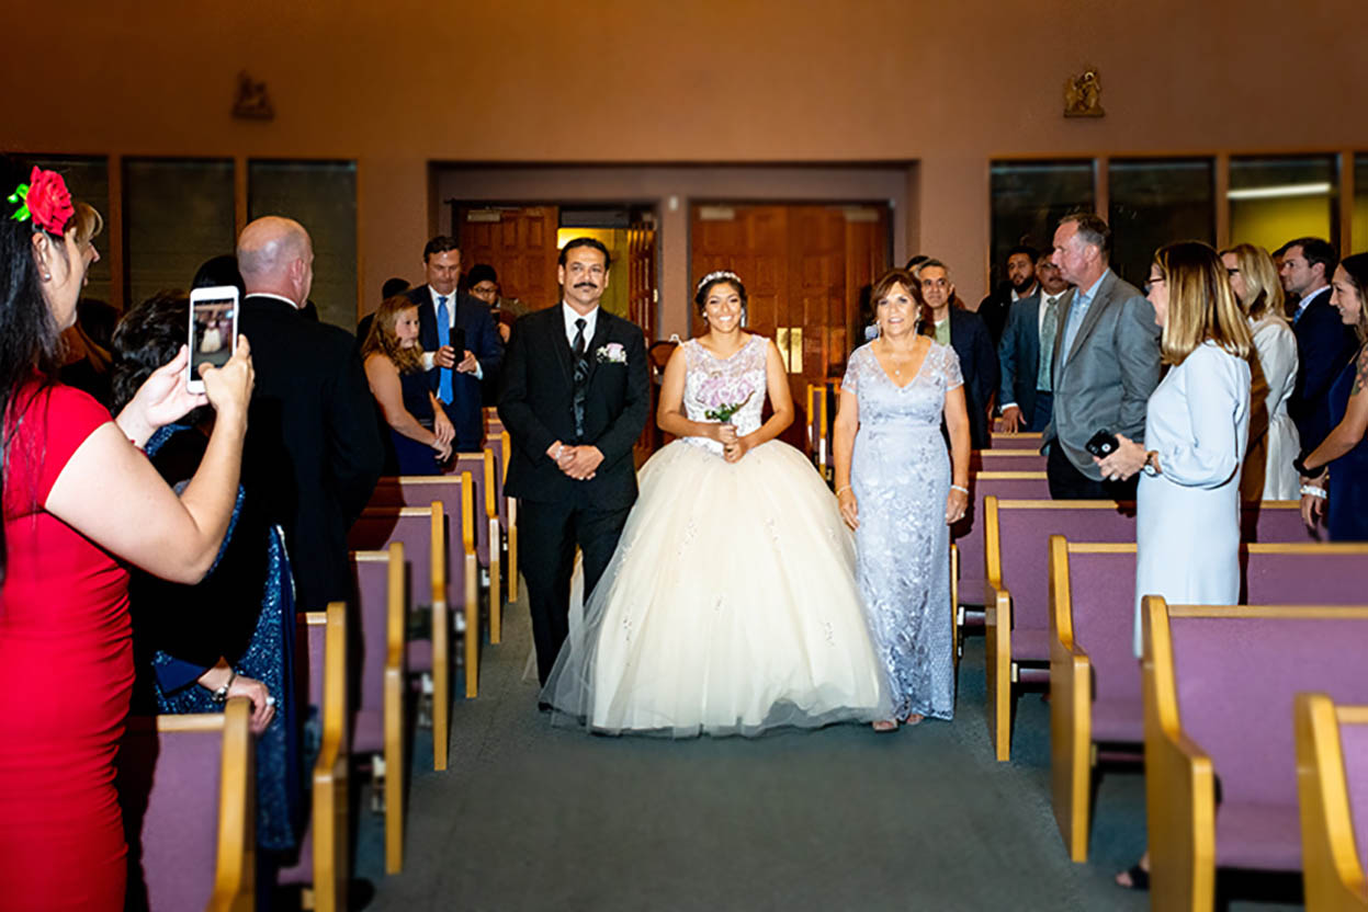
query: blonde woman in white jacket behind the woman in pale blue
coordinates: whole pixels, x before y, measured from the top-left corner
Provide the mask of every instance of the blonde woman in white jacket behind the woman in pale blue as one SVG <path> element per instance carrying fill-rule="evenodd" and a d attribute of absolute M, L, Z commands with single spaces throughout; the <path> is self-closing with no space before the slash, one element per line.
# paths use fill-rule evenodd
<path fill-rule="evenodd" d="M 1297 384 L 1297 336 L 1283 317 L 1278 269 L 1268 252 L 1252 243 L 1223 250 L 1220 260 L 1254 340 L 1249 361 L 1249 453 L 1239 494 L 1245 500 L 1295 500 L 1291 457 L 1300 453 L 1301 440 L 1287 403 Z"/>

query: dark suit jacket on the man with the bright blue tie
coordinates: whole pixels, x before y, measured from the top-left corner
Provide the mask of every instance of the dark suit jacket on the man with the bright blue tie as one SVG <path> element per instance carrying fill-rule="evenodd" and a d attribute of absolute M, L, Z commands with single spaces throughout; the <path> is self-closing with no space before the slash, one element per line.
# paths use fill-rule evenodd
<path fill-rule="evenodd" d="M 432 306 L 432 293 L 423 284 L 404 293 L 413 304 L 419 305 L 419 343 L 424 351 L 436 351 L 440 343 L 436 335 L 436 310 Z M 490 306 L 483 301 L 457 291 L 451 302 L 456 306 L 456 328 L 465 331 L 465 347 L 475 353 L 480 362 L 483 381 L 472 373 L 458 373 L 451 371 L 451 402 L 446 407 L 446 417 L 456 427 L 456 448 L 473 451 L 480 448 L 484 440 L 484 401 L 480 392 L 482 383 L 498 384 L 499 371 L 503 366 L 503 343 L 494 328 L 494 319 L 490 316 Z M 456 360 L 461 360 L 461 353 L 456 353 Z M 428 380 L 432 383 L 432 392 L 440 387 L 442 372 L 428 371 Z"/>

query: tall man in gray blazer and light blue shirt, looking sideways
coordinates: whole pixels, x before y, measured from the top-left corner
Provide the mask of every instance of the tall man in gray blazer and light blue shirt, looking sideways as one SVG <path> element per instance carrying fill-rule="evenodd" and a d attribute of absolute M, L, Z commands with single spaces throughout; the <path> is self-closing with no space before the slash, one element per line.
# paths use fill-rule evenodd
<path fill-rule="evenodd" d="M 1133 500 L 1137 477 L 1104 479 L 1083 444 L 1099 431 L 1144 442 L 1159 386 L 1155 308 L 1108 267 L 1111 228 L 1092 213 L 1064 216 L 1051 260 L 1074 293 L 1055 340 L 1053 417 L 1044 431 L 1055 499 Z"/>

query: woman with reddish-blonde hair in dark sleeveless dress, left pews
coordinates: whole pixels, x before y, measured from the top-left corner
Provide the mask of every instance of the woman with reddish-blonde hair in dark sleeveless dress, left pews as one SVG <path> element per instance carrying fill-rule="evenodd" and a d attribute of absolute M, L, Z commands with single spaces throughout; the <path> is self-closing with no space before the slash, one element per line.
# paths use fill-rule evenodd
<path fill-rule="evenodd" d="M 371 394 L 390 427 L 386 474 L 438 474 L 451 458 L 456 429 L 423 371 L 419 306 L 402 294 L 375 312 L 361 346 Z"/>

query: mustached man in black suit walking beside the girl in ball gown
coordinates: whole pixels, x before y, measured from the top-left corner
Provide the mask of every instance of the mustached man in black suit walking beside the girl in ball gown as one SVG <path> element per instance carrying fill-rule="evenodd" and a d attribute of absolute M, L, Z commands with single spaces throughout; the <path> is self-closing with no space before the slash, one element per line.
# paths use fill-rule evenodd
<path fill-rule="evenodd" d="M 576 238 L 561 250 L 560 306 L 513 327 L 499 417 L 513 455 L 505 489 L 518 537 L 542 684 L 569 632 L 570 572 L 584 552 L 584 600 L 607 567 L 636 502 L 632 446 L 650 387 L 640 328 L 599 308 L 607 249 Z"/>

